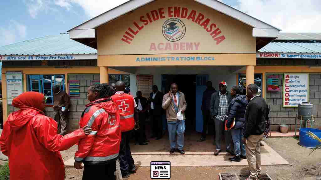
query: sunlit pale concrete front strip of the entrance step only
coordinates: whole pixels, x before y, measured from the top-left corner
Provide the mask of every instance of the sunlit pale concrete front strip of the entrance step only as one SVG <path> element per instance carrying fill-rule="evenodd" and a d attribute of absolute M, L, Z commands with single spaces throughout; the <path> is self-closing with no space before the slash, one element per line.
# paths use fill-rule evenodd
<path fill-rule="evenodd" d="M 213 145 L 212 145 L 213 146 Z M 133 146 L 134 147 L 134 146 Z M 145 146 L 146 147 L 146 146 Z M 283 159 L 276 151 L 265 143 L 261 147 L 262 166 L 288 165 L 289 162 Z M 225 152 L 214 156 L 213 152 L 186 151 L 185 155 L 178 152 L 133 152 L 133 158 L 137 166 L 150 166 L 151 161 L 170 161 L 171 166 L 247 166 L 247 160 L 241 162 L 231 162 Z M 65 161 L 66 167 L 74 167 L 74 158 Z"/>

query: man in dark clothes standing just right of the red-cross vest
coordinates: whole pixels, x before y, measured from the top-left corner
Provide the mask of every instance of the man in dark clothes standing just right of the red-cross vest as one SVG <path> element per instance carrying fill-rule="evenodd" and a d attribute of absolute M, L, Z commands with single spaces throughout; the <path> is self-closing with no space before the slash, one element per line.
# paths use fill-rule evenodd
<path fill-rule="evenodd" d="M 139 129 L 136 134 L 136 140 L 138 139 L 139 145 L 147 145 L 149 142 L 146 138 L 146 111 L 148 110 L 147 98 L 142 96 L 141 91 L 137 91 L 135 101 L 137 104 L 137 111 L 139 117 Z"/>

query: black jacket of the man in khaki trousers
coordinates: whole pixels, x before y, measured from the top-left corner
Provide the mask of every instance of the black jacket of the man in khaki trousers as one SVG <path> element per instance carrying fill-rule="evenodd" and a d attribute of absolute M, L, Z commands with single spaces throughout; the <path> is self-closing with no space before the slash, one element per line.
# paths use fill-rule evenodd
<path fill-rule="evenodd" d="M 266 102 L 261 96 L 256 96 L 247 105 L 245 112 L 245 134 L 261 135 L 265 131 Z"/>

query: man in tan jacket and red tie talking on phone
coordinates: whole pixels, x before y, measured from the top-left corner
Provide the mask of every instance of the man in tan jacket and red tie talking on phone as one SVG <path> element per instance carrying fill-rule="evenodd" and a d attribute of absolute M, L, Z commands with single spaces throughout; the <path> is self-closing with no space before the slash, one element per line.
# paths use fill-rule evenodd
<path fill-rule="evenodd" d="M 169 143 L 170 143 L 170 154 L 173 154 L 177 150 L 181 154 L 185 154 L 183 150 L 184 146 L 184 132 L 185 132 L 185 110 L 187 103 L 185 100 L 185 95 L 178 91 L 178 86 L 173 83 L 170 86 L 169 93 L 165 94 L 163 97 L 162 108 L 166 110 L 166 118 L 169 133 Z M 177 117 L 177 114 L 181 114 L 183 117 Z M 176 133 L 177 133 L 177 149 L 176 147 Z"/>

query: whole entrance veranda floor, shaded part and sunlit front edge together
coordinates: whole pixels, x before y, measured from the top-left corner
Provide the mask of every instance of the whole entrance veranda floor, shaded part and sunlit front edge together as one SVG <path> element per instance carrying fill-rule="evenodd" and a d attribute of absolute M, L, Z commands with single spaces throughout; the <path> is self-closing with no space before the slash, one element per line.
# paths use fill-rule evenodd
<path fill-rule="evenodd" d="M 148 145 L 135 145 L 134 138 L 130 144 L 132 156 L 137 166 L 150 166 L 151 161 L 170 161 L 171 166 L 247 166 L 247 160 L 241 162 L 231 162 L 225 152 L 225 145 L 222 143 L 222 152 L 214 156 L 215 146 L 213 145 L 213 135 L 208 135 L 206 141 L 197 143 L 200 133 L 186 132 L 184 150 L 185 155 L 178 152 L 169 154 L 168 133 L 160 140 L 149 139 Z M 288 161 L 283 159 L 276 151 L 265 143 L 261 146 L 262 166 L 287 165 Z M 67 167 L 74 166 L 74 158 L 65 161 Z"/>

